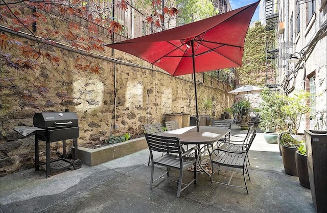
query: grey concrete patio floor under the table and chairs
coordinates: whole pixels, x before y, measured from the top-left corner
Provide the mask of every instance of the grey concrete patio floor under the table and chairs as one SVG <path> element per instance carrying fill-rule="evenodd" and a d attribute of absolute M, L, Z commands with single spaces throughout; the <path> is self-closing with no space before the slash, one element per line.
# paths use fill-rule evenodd
<path fill-rule="evenodd" d="M 232 134 L 245 134 L 237 125 Z M 278 145 L 267 144 L 258 133 L 249 151 L 251 180 L 245 188 L 210 184 L 206 174 L 198 174 L 176 198 L 177 184 L 158 180 L 149 188 L 149 151 L 115 159 L 95 167 L 82 165 L 49 178 L 44 171 L 20 171 L 0 178 L 0 212 L 315 212 L 311 191 L 298 177 L 284 173 Z M 155 176 L 166 168 L 155 167 Z M 177 176 L 171 172 L 171 177 Z M 183 182 L 193 172 L 185 171 Z M 214 175 L 228 180 L 229 174 Z M 232 181 L 244 184 L 242 175 Z"/>

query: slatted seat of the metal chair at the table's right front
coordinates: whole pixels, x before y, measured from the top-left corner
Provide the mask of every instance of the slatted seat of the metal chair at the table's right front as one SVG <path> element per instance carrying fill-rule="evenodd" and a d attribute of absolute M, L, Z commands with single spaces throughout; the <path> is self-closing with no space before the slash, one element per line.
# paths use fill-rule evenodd
<path fill-rule="evenodd" d="M 243 168 L 245 155 L 220 152 L 212 161 L 220 165 L 228 165 L 228 167 Z"/>

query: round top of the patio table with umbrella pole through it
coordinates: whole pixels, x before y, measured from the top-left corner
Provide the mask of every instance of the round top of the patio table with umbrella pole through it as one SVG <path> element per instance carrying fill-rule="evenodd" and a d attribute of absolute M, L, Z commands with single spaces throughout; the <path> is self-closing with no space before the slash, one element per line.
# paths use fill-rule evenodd
<path fill-rule="evenodd" d="M 211 144 L 230 132 L 230 129 L 215 126 L 183 127 L 160 133 L 161 136 L 179 137 L 182 144 Z"/>

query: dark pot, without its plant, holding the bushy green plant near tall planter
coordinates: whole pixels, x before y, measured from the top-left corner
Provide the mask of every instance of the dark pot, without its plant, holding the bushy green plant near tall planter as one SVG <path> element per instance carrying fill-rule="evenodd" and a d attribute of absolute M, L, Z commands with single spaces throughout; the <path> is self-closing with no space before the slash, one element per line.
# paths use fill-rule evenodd
<path fill-rule="evenodd" d="M 292 176 L 297 176 L 295 152 L 296 147 L 286 147 L 282 145 L 282 157 L 285 173 Z"/>

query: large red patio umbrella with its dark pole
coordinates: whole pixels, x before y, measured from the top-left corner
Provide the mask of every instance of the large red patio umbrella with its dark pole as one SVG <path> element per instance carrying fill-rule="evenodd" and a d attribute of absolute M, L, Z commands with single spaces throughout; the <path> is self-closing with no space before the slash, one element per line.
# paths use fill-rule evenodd
<path fill-rule="evenodd" d="M 258 5 L 105 46 L 142 58 L 172 76 L 194 74 L 198 121 L 195 73 L 242 65 L 246 32 Z"/>

